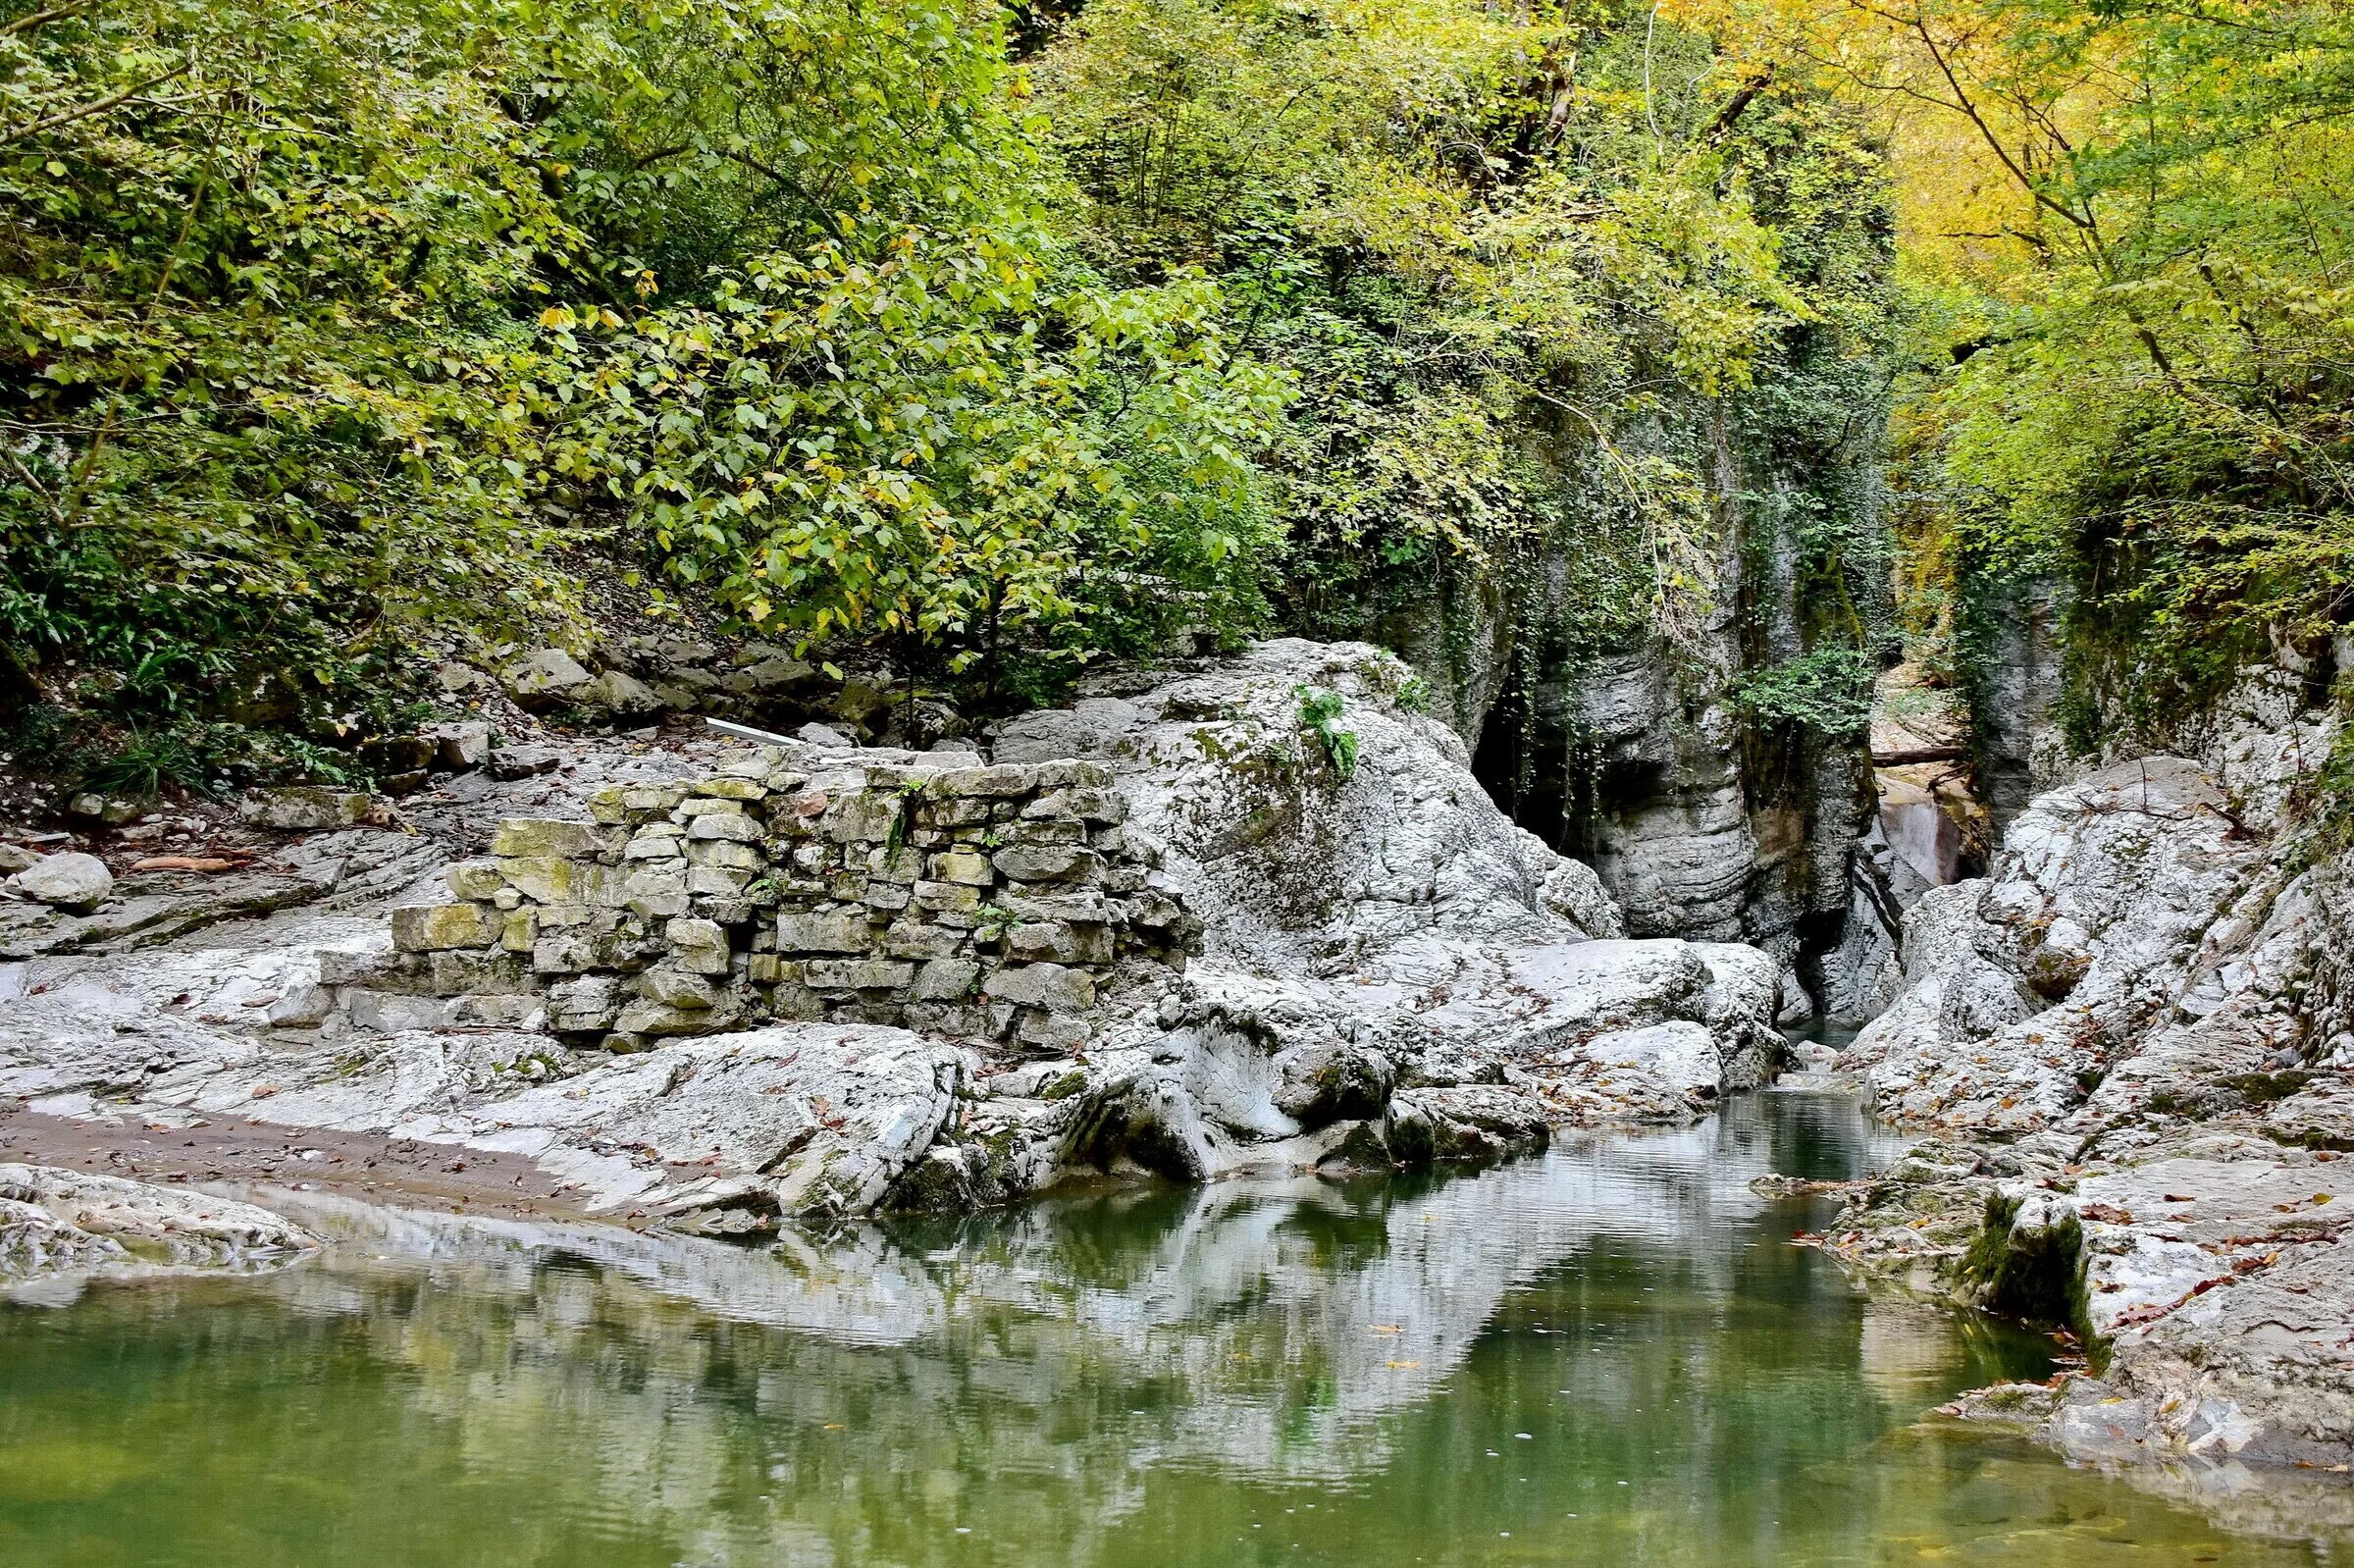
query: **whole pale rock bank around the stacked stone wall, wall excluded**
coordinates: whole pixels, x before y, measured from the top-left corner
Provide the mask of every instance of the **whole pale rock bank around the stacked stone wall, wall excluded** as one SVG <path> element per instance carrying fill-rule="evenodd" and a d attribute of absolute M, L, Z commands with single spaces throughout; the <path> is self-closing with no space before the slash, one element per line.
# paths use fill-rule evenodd
<path fill-rule="evenodd" d="M 1109 996 L 1085 1062 L 1015 1067 L 876 1024 L 574 1055 L 499 996 L 473 998 L 473 1026 L 435 1001 L 320 1041 L 320 958 L 381 951 L 384 906 L 419 902 L 438 869 L 403 862 L 348 913 L 0 970 L 16 991 L 0 1092 L 85 1121 L 238 1116 L 511 1154 L 600 1212 L 727 1231 L 1008 1201 L 1073 1172 L 1495 1158 L 1563 1123 L 1693 1121 L 1758 1083 L 1775 961 L 1624 939 L 1596 876 L 1398 706 L 1405 680 L 1372 647 L 1269 643 L 1003 727 L 998 760 L 1109 763 L 1144 850 L 1130 871 L 1208 925 L 1182 982 Z M 1302 730 L 1299 687 L 1342 697 L 1351 777 Z"/>

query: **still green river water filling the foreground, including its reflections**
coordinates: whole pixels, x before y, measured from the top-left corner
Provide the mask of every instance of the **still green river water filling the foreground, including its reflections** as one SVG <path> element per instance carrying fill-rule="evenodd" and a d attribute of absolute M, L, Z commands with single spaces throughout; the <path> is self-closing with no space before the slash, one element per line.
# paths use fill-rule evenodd
<path fill-rule="evenodd" d="M 2048 1347 L 1749 1191 L 1874 1154 L 1754 1095 L 774 1250 L 297 1196 L 301 1267 L 0 1302 L 0 1563 L 2354 1563 L 1923 1420 Z"/>

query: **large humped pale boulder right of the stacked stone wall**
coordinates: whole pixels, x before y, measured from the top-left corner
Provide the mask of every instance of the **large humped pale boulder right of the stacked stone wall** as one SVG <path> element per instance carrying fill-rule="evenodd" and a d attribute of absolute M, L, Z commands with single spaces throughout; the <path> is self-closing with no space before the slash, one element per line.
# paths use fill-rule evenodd
<path fill-rule="evenodd" d="M 1302 687 L 1342 697 L 1346 779 L 1302 727 Z M 1554 1123 L 1683 1121 L 1758 1083 L 1780 1043 L 1777 965 L 1737 944 L 1622 939 L 1594 871 L 1514 826 L 1462 742 L 1401 711 L 1403 690 L 1405 666 L 1375 647 L 1276 640 L 998 732 L 998 760 L 1109 763 L 1128 831 L 1203 918 L 1186 998 L 1095 1052 L 1118 1081 L 1158 1085 L 1130 1109 L 1144 1123 L 1165 1109 L 1186 1149 L 1175 1165 L 1231 1168 L 1250 1144 L 1297 1154 L 1285 1140 L 1337 1114 L 1379 1128 L 1389 1083 L 1492 1085 Z M 1598 1057 L 1603 1036 L 1617 1043 Z M 1248 1092 L 1250 1071 L 1168 1071 L 1250 1057 L 1266 1081 Z"/>

